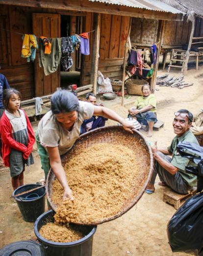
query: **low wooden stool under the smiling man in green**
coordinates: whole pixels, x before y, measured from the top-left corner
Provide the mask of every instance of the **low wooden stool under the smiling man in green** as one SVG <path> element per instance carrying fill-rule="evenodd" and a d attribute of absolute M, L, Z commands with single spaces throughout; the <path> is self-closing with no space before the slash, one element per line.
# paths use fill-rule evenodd
<path fill-rule="evenodd" d="M 194 187 L 193 190 L 189 191 L 188 194 L 182 195 L 176 193 L 174 190 L 172 190 L 169 187 L 165 188 L 165 191 L 163 193 L 163 201 L 165 203 L 169 203 L 171 205 L 174 205 L 175 209 L 178 209 L 180 207 L 180 202 L 182 199 L 191 197 L 196 194 L 197 188 Z"/>

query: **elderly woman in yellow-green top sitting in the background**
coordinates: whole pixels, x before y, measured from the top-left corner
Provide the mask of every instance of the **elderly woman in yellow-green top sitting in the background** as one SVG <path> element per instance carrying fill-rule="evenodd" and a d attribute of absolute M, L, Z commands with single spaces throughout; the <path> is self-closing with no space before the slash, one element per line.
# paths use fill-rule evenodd
<path fill-rule="evenodd" d="M 153 124 L 156 123 L 156 98 L 151 94 L 150 85 L 142 86 L 143 96 L 138 97 L 133 107 L 128 109 L 129 116 L 145 126 L 149 126 L 148 137 L 152 137 Z"/>

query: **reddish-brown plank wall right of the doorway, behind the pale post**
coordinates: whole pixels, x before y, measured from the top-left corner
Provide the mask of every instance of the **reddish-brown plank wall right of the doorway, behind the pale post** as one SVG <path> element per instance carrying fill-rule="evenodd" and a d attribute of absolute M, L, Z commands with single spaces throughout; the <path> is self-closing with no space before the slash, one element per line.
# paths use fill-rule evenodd
<path fill-rule="evenodd" d="M 91 31 L 93 28 L 93 14 L 87 13 L 86 31 Z M 129 17 L 110 14 L 101 15 L 99 71 L 104 77 L 122 80 L 122 65 L 128 28 Z M 92 35 L 90 35 L 91 40 Z M 90 42 L 90 49 L 91 44 L 92 42 Z M 82 85 L 90 84 L 90 71 L 91 54 L 84 57 Z"/>

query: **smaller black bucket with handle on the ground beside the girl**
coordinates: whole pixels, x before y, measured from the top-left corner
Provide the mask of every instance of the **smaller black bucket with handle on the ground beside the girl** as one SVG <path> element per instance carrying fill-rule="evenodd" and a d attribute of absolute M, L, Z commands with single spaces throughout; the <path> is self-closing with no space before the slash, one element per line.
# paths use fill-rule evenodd
<path fill-rule="evenodd" d="M 20 186 L 13 191 L 13 196 L 40 186 L 41 185 L 39 184 L 27 184 Z M 15 198 L 25 221 L 35 222 L 36 219 L 45 211 L 45 195 L 46 189 L 45 187 L 41 187 Z"/>

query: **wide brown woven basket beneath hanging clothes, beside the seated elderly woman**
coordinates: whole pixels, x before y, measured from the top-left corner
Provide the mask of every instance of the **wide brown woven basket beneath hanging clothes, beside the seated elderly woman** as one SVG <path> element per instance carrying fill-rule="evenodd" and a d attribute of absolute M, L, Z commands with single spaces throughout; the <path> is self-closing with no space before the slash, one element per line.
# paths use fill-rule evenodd
<path fill-rule="evenodd" d="M 142 86 L 144 84 L 149 84 L 149 83 L 145 80 L 138 80 L 138 79 L 126 80 L 126 88 L 127 88 L 128 94 L 142 95 Z"/>

